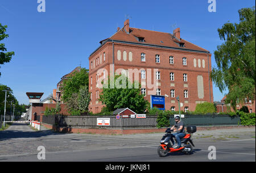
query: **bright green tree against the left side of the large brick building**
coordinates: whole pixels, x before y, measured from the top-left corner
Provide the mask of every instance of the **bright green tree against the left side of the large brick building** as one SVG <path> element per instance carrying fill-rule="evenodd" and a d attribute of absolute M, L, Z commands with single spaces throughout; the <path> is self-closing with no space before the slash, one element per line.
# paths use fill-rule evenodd
<path fill-rule="evenodd" d="M 63 81 L 63 85 L 60 90 L 62 91 L 62 99 L 68 102 L 68 99 L 72 97 L 73 93 L 79 93 L 81 86 L 89 85 L 89 73 L 88 69 L 81 68 L 79 72 L 75 71 L 68 79 Z"/>

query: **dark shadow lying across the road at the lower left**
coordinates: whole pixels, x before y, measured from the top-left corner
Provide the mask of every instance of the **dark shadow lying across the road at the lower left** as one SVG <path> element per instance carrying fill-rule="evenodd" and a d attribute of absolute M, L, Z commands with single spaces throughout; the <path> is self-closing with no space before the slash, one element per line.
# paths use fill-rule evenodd
<path fill-rule="evenodd" d="M 47 130 L 40 130 L 40 131 L 28 131 L 30 129 L 29 126 L 26 124 L 13 124 L 15 126 L 20 126 L 15 129 L 7 129 L 0 131 L 0 142 L 4 140 L 9 140 L 10 138 L 39 138 L 44 136 L 59 136 L 63 135 L 64 133 L 56 133 L 53 130 L 47 129 Z M 27 126 L 26 128 L 22 128 L 22 126 Z"/>

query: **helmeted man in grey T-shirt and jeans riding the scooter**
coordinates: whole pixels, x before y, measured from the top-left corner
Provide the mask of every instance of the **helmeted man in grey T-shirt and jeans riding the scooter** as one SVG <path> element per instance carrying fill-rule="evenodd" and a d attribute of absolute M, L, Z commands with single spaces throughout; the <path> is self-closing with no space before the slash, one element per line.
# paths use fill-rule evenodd
<path fill-rule="evenodd" d="M 180 139 L 185 136 L 185 130 L 184 130 L 183 121 L 180 120 L 179 116 L 175 117 L 175 123 L 176 124 L 174 126 L 172 126 L 171 130 L 174 130 L 174 132 L 176 132 L 176 133 L 171 134 L 171 141 L 172 141 L 172 144 L 175 145 L 173 137 L 176 138 L 176 141 L 177 141 L 176 148 L 178 149 L 179 147 L 181 147 Z M 176 130 L 174 128 L 176 128 Z"/>

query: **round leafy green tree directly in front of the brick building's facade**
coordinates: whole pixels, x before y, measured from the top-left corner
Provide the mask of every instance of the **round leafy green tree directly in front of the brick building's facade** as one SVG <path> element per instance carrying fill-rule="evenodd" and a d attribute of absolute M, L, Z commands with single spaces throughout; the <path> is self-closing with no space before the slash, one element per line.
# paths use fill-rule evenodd
<path fill-rule="evenodd" d="M 112 80 L 115 83 L 113 88 L 110 87 Z M 122 87 L 117 87 L 118 82 Z M 135 82 L 130 82 L 125 75 L 117 75 L 114 79 L 109 78 L 108 84 L 102 88 L 99 100 L 106 105 L 108 111 L 114 111 L 117 108 L 130 108 L 136 113 L 144 113 L 149 103 L 141 94 L 141 86 L 138 85 L 139 88 L 135 88 L 135 86 Z"/>

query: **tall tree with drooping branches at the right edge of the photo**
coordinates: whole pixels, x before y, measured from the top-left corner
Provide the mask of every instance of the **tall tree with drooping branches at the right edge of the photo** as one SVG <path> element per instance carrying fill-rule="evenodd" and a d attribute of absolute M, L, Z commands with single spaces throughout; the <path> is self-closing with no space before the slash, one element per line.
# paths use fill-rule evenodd
<path fill-rule="evenodd" d="M 240 23 L 225 23 L 218 28 L 224 43 L 214 51 L 217 68 L 211 73 L 221 92 L 228 88 L 225 103 L 234 109 L 245 99 L 255 100 L 255 7 L 238 13 Z"/>

